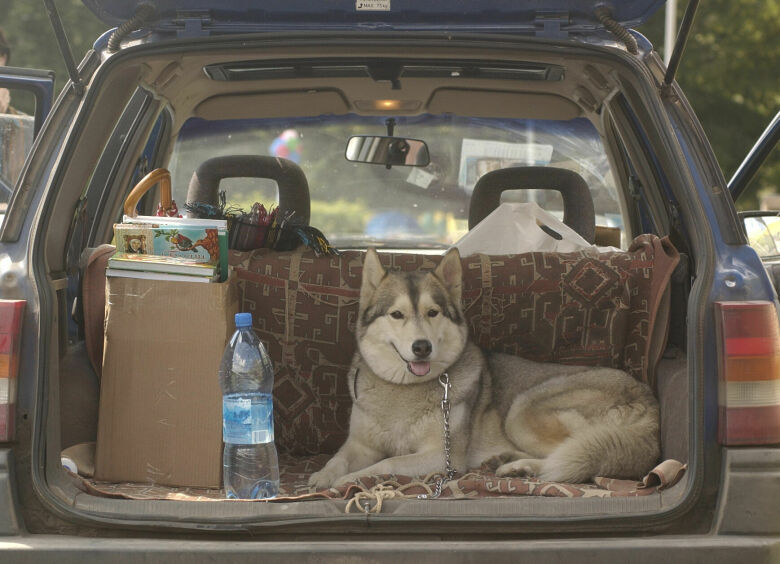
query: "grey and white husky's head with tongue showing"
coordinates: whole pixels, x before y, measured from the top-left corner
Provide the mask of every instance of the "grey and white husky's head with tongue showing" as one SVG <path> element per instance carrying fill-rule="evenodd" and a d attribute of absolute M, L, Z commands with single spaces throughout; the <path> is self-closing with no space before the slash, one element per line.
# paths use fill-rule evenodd
<path fill-rule="evenodd" d="M 413 384 L 447 370 L 468 339 L 461 289 L 457 249 L 427 273 L 388 272 L 369 249 L 357 329 L 360 354 L 374 373 L 395 384 Z"/>

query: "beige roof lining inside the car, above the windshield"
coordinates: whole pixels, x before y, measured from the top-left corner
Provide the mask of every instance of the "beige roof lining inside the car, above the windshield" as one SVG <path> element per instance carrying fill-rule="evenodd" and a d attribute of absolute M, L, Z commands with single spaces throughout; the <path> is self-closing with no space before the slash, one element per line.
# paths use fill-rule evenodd
<path fill-rule="evenodd" d="M 441 64 L 456 64 L 452 49 L 436 53 L 429 51 L 425 58 L 430 66 L 431 57 Z M 469 59 L 475 54 L 469 51 Z M 354 60 L 354 50 L 334 48 L 327 53 L 312 53 L 311 48 L 276 50 L 264 49 L 262 54 L 242 53 L 242 58 L 262 59 L 284 63 L 286 59 L 300 60 L 304 56 L 339 56 Z M 366 58 L 384 56 L 414 65 L 415 57 L 390 58 L 377 51 L 368 50 Z M 477 54 L 479 56 L 479 54 Z M 484 56 L 488 56 L 485 53 Z M 235 52 L 222 54 L 187 53 L 172 57 L 170 54 L 151 55 L 144 61 L 146 68 L 144 86 L 164 99 L 174 115 L 172 134 L 176 135 L 190 117 L 203 119 L 250 119 L 264 117 L 342 115 L 416 115 L 422 113 L 453 113 L 474 117 L 507 117 L 531 119 L 569 120 L 588 117 L 599 126 L 598 113 L 602 101 L 611 92 L 611 84 L 595 83 L 592 71 L 598 66 L 592 59 L 577 61 L 577 57 L 565 60 L 558 54 L 534 54 L 518 52 L 507 56 L 508 65 L 519 62 L 558 65 L 564 69 L 560 80 L 508 80 L 506 78 L 464 79 L 458 76 L 401 76 L 400 80 L 375 80 L 370 76 L 270 78 L 262 80 L 213 80 L 205 72 L 209 65 L 230 63 L 236 60 Z M 278 58 L 277 58 L 278 57 Z M 515 60 L 516 59 L 516 60 Z M 422 59 L 421 59 L 422 60 Z M 450 62 L 448 62 L 450 61 Z M 495 66 L 495 63 L 493 63 Z M 603 81 L 606 71 L 598 74 Z M 361 101 L 401 100 L 411 102 L 406 110 L 391 112 L 376 110 L 360 104 Z M 358 104 L 356 104 L 358 102 Z"/>

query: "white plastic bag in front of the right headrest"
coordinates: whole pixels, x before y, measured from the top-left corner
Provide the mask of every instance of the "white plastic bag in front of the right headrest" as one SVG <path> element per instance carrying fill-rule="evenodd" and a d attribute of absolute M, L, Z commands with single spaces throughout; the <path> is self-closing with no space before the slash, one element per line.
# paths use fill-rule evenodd
<path fill-rule="evenodd" d="M 594 249 L 571 227 L 536 203 L 503 203 L 454 245 L 461 256 Z"/>

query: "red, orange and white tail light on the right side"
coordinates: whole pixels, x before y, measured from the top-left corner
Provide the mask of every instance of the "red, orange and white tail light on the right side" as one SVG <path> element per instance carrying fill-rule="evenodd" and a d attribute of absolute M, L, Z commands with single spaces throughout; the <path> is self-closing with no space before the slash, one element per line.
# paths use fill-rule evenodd
<path fill-rule="evenodd" d="M 717 302 L 724 445 L 780 443 L 780 321 L 772 302 Z"/>

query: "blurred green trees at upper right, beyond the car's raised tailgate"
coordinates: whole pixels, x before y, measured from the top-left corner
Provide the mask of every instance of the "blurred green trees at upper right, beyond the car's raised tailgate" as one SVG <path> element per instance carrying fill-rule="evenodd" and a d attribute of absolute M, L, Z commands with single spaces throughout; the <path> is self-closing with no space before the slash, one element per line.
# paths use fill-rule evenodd
<path fill-rule="evenodd" d="M 678 22 L 685 2 L 678 5 Z M 663 9 L 639 30 L 660 52 Z M 706 0 L 699 4 L 677 82 L 707 132 L 726 180 L 780 111 L 780 0 Z M 767 159 L 739 207 L 780 193 L 780 151 Z"/>

